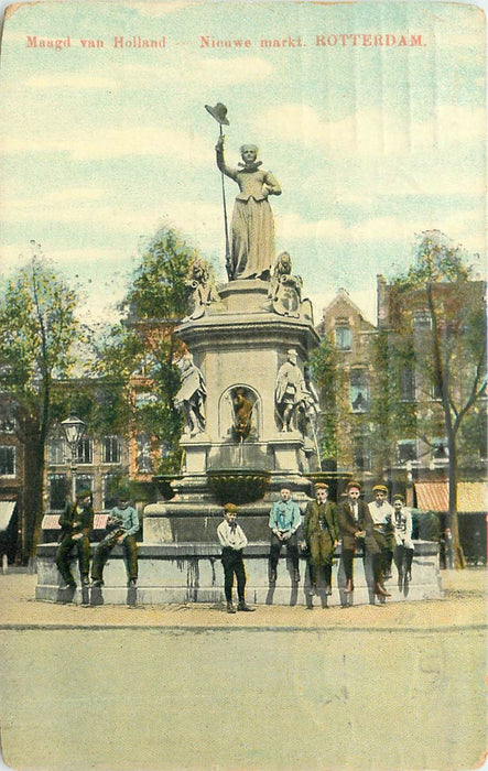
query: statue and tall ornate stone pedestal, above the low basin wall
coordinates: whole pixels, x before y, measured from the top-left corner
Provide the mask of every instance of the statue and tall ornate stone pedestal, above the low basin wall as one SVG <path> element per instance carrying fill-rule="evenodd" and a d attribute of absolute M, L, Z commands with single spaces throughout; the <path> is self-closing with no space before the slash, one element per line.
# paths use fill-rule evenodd
<path fill-rule="evenodd" d="M 186 421 L 183 477 L 173 482 L 174 499 L 145 509 L 144 541 L 152 543 L 215 541 L 216 523 L 208 529 L 208 517 L 228 501 L 241 506 L 248 537 L 267 541 L 268 512 L 280 484 L 292 484 L 295 498 L 305 500 L 306 475 L 319 470 L 316 422 L 310 420 L 316 391 L 304 376 L 319 338 L 292 258 L 275 257 L 268 198 L 280 195 L 281 186 L 262 169 L 254 144 L 241 145 L 238 166 L 227 164 L 226 108 L 207 110 L 220 126 L 217 167 L 238 185 L 230 237 L 224 218 L 229 280 L 209 298 L 192 269 L 193 296 L 209 300 L 193 302 L 177 335 L 199 372 L 205 421 L 196 420 L 191 401 L 178 394 Z M 192 389 L 183 384 L 181 393 L 185 390 Z M 195 399 L 193 390 L 191 395 Z"/>

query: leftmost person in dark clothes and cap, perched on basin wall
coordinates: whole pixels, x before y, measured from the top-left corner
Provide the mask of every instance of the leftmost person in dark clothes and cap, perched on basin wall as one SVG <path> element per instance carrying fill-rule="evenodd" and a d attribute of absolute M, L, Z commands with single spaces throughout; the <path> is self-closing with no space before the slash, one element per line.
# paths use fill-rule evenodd
<path fill-rule="evenodd" d="M 80 490 L 76 503 L 69 503 L 59 517 L 61 542 L 56 553 L 56 566 L 63 576 L 63 589 L 76 588 L 76 582 L 69 567 L 69 557 L 74 547 L 78 552 L 82 584 L 89 584 L 90 540 L 94 526 L 94 509 L 90 490 Z"/>

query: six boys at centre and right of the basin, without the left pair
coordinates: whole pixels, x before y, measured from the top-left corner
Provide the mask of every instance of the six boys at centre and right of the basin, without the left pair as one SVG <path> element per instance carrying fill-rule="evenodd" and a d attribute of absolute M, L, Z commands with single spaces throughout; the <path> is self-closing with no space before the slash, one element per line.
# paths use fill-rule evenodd
<path fill-rule="evenodd" d="M 372 488 L 373 500 L 368 504 L 360 500 L 360 485 L 349 481 L 346 499 L 336 504 L 328 500 L 328 485 L 315 485 L 315 500 L 310 501 L 302 514 L 299 504 L 292 499 L 292 490 L 282 485 L 280 499 L 271 507 L 269 528 L 271 547 L 269 556 L 269 580 L 273 584 L 278 576 L 278 563 L 281 549 L 286 545 L 286 556 L 292 566 L 293 583 L 300 582 L 300 550 L 308 550 L 310 595 L 317 591 L 317 582 L 323 574 L 325 594 L 332 594 L 332 568 L 335 549 L 340 540 L 341 560 L 346 578 L 344 593 L 354 591 L 354 555 L 362 544 L 366 554 L 371 556 L 373 593 L 386 598 L 390 593 L 383 582 L 391 578 L 391 564 L 395 560 L 399 577 L 405 582 L 412 578 L 412 517 L 405 507 L 403 496 L 393 496 L 393 506 L 387 500 L 388 489 L 384 485 Z M 247 544 L 246 535 L 236 523 L 237 507 L 227 503 L 224 507 L 224 522 L 217 529 L 223 545 L 223 566 L 225 574 L 225 593 L 228 612 L 235 612 L 232 605 L 234 575 L 237 577 L 239 610 L 249 610 L 245 600 L 246 572 L 242 550 Z M 232 528 L 232 542 L 229 528 Z"/>

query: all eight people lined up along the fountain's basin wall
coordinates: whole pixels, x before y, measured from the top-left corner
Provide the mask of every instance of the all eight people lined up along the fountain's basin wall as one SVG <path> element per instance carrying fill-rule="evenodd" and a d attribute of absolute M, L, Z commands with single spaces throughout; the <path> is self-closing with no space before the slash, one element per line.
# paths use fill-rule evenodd
<path fill-rule="evenodd" d="M 292 580 L 300 582 L 300 550 L 308 549 L 310 595 L 317 591 L 317 582 L 323 573 L 325 594 L 332 594 L 332 568 L 337 543 L 341 542 L 341 558 L 346 577 L 345 594 L 354 591 L 354 555 L 362 542 L 367 554 L 372 558 L 373 591 L 379 597 L 390 597 L 383 580 L 391 577 L 391 563 L 395 558 L 399 575 L 410 580 L 412 577 L 412 519 L 404 507 L 402 496 L 393 496 L 393 507 L 387 501 L 388 490 L 383 485 L 373 488 L 375 500 L 369 504 L 360 500 L 360 486 L 349 481 L 346 499 L 336 504 L 328 500 L 328 485 L 315 485 L 315 500 L 306 504 L 304 521 L 299 504 L 292 498 L 292 490 L 282 485 L 279 500 L 274 501 L 269 518 L 271 546 L 269 556 L 269 580 L 273 584 L 278 576 L 278 563 L 282 547 L 292 564 Z M 246 571 L 243 549 L 248 540 L 237 523 L 238 508 L 234 503 L 224 507 L 224 521 L 217 528 L 221 545 L 224 567 L 224 589 L 228 612 L 236 612 L 232 604 L 234 578 L 237 579 L 237 610 L 252 611 L 245 598 Z M 89 586 L 90 542 L 94 526 L 91 493 L 82 490 L 76 502 L 69 504 L 59 517 L 62 537 L 56 553 L 56 565 L 63 576 L 64 586 L 76 587 L 69 562 L 75 547 L 78 553 L 82 585 Z M 128 571 L 128 586 L 135 587 L 138 578 L 139 530 L 137 510 L 129 506 L 129 497 L 120 495 L 117 506 L 107 520 L 105 537 L 97 545 L 91 564 L 91 586 L 102 586 L 105 564 L 117 544 L 123 546 Z"/>

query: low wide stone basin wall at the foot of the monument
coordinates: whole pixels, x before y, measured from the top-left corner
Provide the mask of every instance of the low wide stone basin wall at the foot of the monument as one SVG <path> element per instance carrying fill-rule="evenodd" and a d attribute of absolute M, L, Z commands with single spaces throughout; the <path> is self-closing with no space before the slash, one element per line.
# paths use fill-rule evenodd
<path fill-rule="evenodd" d="M 139 550 L 139 578 L 135 588 L 127 587 L 123 553 L 113 550 L 104 571 L 102 587 L 80 587 L 77 563 L 72 569 L 78 588 L 59 588 L 61 576 L 55 565 L 55 544 L 44 544 L 37 550 L 37 586 L 35 597 L 53 602 L 86 605 L 159 605 L 186 602 L 224 602 L 224 571 L 220 550 L 216 545 L 141 544 Z M 291 579 L 292 571 L 283 550 L 278 566 L 278 578 L 268 578 L 268 544 L 251 544 L 245 552 L 247 573 L 246 598 L 252 605 L 303 605 L 332 607 L 337 605 L 365 605 L 382 602 L 372 594 L 372 575 L 369 558 L 355 557 L 355 591 L 346 595 L 346 580 L 339 555 L 333 568 L 333 594 L 325 595 L 318 584 L 317 595 L 311 597 L 310 572 L 306 560 L 301 558 L 300 583 Z M 404 600 L 440 599 L 443 597 L 436 544 L 415 543 L 412 580 L 400 582 L 393 565 L 392 578 L 386 582 L 391 594 L 388 602 Z M 235 589 L 236 594 L 236 589 Z"/>

